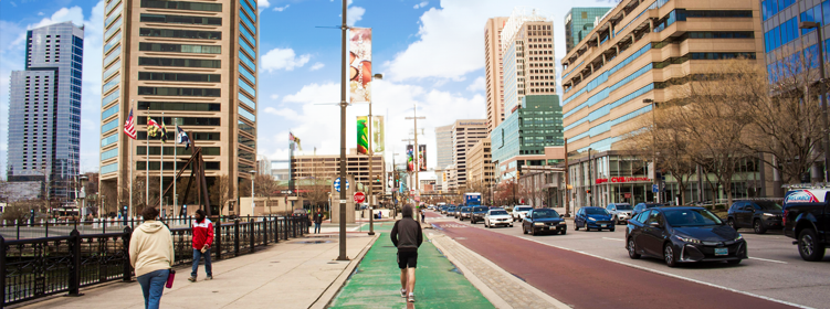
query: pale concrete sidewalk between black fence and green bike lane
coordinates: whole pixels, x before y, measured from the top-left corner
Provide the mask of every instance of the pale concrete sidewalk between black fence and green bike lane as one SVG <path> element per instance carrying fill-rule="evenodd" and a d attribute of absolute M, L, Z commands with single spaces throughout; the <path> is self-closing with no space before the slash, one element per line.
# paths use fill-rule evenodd
<path fill-rule="evenodd" d="M 165 289 L 161 308 L 309 308 L 325 306 L 343 285 L 376 237 L 348 235 L 350 262 L 336 262 L 336 236 L 302 237 L 261 252 L 213 262 L 213 280 L 189 283 L 190 267 L 176 267 L 172 289 Z M 22 308 L 144 308 L 137 281 L 82 288 L 81 297 L 52 297 Z M 317 302 L 317 303 L 315 303 Z M 322 306 L 318 305 L 322 302 Z M 18 306 L 20 307 L 20 306 Z"/>

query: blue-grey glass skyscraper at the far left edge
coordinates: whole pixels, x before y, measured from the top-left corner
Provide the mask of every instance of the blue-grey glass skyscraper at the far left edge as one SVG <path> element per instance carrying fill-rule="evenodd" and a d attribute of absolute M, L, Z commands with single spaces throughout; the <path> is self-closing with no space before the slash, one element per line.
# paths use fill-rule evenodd
<path fill-rule="evenodd" d="M 7 177 L 43 182 L 50 198 L 71 200 L 81 148 L 84 29 L 56 23 L 27 31 L 25 40 L 25 71 L 11 73 Z"/>

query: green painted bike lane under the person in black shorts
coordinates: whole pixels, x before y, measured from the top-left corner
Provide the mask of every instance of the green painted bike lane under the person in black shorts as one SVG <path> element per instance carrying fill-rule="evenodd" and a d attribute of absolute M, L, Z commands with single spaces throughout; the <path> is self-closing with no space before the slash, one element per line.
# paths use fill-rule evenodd
<path fill-rule="evenodd" d="M 393 222 L 375 224 L 380 237 L 366 253 L 330 308 L 403 308 L 398 249 L 389 239 Z M 455 266 L 430 243 L 418 249 L 416 308 L 494 308 Z"/>

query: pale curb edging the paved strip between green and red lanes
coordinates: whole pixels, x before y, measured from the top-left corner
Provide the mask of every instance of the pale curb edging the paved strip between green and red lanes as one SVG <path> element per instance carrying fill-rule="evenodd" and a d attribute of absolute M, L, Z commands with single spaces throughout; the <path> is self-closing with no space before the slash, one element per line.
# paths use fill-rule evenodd
<path fill-rule="evenodd" d="M 435 236 L 439 236 L 439 237 L 435 237 Z M 525 283 L 523 280 L 519 280 L 518 278 L 516 278 L 512 274 L 507 273 L 507 270 L 504 270 L 498 265 L 495 265 L 493 262 L 490 262 L 490 259 L 486 259 L 483 256 L 479 255 L 477 253 L 475 253 L 475 252 L 469 249 L 467 247 L 459 244 L 458 242 L 455 242 L 455 239 L 453 239 L 451 237 L 446 237 L 443 234 L 441 234 L 441 235 L 433 235 L 432 236 L 432 239 L 433 239 L 432 244 L 435 245 L 435 247 L 438 247 L 446 256 L 446 258 L 450 259 L 450 262 L 452 262 L 452 264 L 454 264 L 456 267 L 459 267 L 459 269 L 461 269 L 461 271 L 464 274 L 464 277 L 466 277 L 470 280 L 470 283 L 473 284 L 473 286 L 475 288 L 477 288 L 479 290 L 481 290 L 482 295 L 484 295 L 484 297 L 487 298 L 487 300 L 490 300 L 491 302 L 493 302 L 493 306 L 495 306 L 496 308 L 513 308 L 513 306 L 511 306 L 503 298 L 501 298 L 495 291 L 493 291 L 493 289 L 491 289 L 486 284 L 484 284 L 484 281 L 482 281 L 481 279 L 479 279 L 479 277 L 476 277 L 475 275 L 473 275 L 473 273 L 470 271 L 466 268 L 466 266 L 464 266 L 463 264 L 459 263 L 452 255 L 448 254 L 448 252 L 443 248 L 443 246 L 440 245 L 439 242 L 434 242 L 435 238 L 443 238 L 443 239 L 446 239 L 449 242 L 454 242 L 455 245 L 458 245 L 461 249 L 465 251 L 471 256 L 477 258 L 482 263 L 484 263 L 487 266 L 490 266 L 493 269 L 495 269 L 502 276 L 505 276 L 505 277 L 509 278 L 509 280 L 512 280 L 516 285 L 518 285 L 522 288 L 524 288 L 524 289 L 533 292 L 534 295 L 538 296 L 543 300 L 545 300 L 548 303 L 550 303 L 551 308 L 563 308 L 563 309 L 565 309 L 565 308 L 568 308 L 568 309 L 571 308 L 570 306 L 565 305 L 564 302 L 557 300 L 556 298 L 550 297 L 549 295 L 543 292 L 542 290 L 535 288 L 534 286 L 532 286 L 532 285 L 529 285 L 529 284 L 527 284 L 527 283 Z"/>

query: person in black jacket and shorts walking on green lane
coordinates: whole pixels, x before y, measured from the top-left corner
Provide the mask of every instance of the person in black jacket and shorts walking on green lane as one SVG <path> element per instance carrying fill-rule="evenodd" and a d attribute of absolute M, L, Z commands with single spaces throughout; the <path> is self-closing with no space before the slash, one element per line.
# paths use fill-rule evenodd
<path fill-rule="evenodd" d="M 423 243 L 421 225 L 412 219 L 411 204 L 403 205 L 403 219 L 395 222 L 392 244 L 398 248 L 398 268 L 400 268 L 400 297 L 414 302 L 414 270 L 418 266 L 418 247 Z"/>

